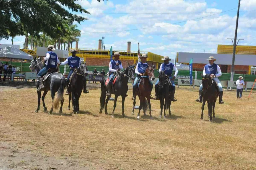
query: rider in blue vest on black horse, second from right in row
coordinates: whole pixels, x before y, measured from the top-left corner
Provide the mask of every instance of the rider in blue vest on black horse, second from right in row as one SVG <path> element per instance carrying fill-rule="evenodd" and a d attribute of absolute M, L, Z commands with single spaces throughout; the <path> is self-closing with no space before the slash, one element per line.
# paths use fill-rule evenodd
<path fill-rule="evenodd" d="M 164 73 L 169 77 L 169 83 L 172 85 L 173 91 L 172 91 L 172 96 L 171 96 L 171 102 L 176 102 L 177 100 L 174 97 L 175 94 L 175 83 L 174 83 L 174 79 L 176 78 L 176 76 L 178 75 L 178 69 L 176 68 L 176 66 L 169 62 L 171 59 L 168 56 L 164 56 L 164 58 L 162 58 L 162 60 L 164 60 L 164 63 L 162 63 L 160 65 L 159 68 L 159 72 L 160 71 L 164 71 Z M 172 70 L 175 70 L 174 76 L 172 77 Z M 154 100 L 159 100 L 159 96 L 158 94 L 158 84 L 159 84 L 159 80 L 157 80 L 156 84 L 155 84 L 155 96 L 153 97 Z"/>

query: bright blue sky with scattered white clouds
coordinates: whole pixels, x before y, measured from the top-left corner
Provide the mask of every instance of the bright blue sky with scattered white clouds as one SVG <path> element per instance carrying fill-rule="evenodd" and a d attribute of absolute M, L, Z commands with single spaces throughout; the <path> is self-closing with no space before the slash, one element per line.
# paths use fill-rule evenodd
<path fill-rule="evenodd" d="M 127 50 L 130 41 L 131 50 L 137 51 L 139 42 L 140 51 L 173 59 L 176 52 L 216 53 L 218 44 L 232 45 L 227 39 L 234 38 L 238 7 L 238 0 L 105 0 L 100 3 L 78 0 L 76 3 L 91 13 L 74 13 L 89 19 L 74 23 L 82 32 L 79 48 L 96 49 L 98 40 L 105 37 L 105 49 L 112 46 L 113 50 Z M 132 29 L 139 30 L 124 31 Z M 241 0 L 237 38 L 245 40 L 239 45 L 256 45 L 255 37 L 256 0 Z M 24 40 L 24 36 L 15 37 L 14 44 L 23 45 Z M 0 43 L 11 44 L 11 39 Z"/>

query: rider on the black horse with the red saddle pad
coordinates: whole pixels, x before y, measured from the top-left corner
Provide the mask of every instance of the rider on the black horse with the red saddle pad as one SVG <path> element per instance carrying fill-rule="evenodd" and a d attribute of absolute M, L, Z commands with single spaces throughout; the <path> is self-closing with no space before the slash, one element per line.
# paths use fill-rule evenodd
<path fill-rule="evenodd" d="M 108 82 L 108 90 L 107 90 L 107 96 L 111 96 L 111 89 L 112 89 L 112 82 L 113 82 L 113 74 L 116 72 L 117 69 L 122 70 L 123 66 L 121 61 L 119 60 L 120 53 L 115 52 L 113 55 L 114 59 L 109 62 L 109 82 Z"/>

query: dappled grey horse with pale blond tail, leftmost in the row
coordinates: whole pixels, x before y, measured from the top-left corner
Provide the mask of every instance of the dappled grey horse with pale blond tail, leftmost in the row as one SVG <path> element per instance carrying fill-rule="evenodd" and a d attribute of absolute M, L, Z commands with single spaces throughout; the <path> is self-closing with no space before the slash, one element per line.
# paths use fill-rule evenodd
<path fill-rule="evenodd" d="M 29 68 L 36 69 L 36 74 L 38 74 L 38 72 L 43 68 L 42 62 L 43 61 L 40 61 L 39 59 L 34 57 L 34 59 L 31 61 Z M 44 112 L 47 111 L 47 107 L 45 106 L 45 103 L 44 103 L 44 98 L 48 93 L 48 91 L 51 91 L 51 97 L 53 102 L 52 102 L 52 108 L 49 114 L 52 114 L 53 108 L 58 109 L 60 103 L 61 103 L 61 106 L 60 106 L 59 113 L 62 113 L 62 106 L 64 102 L 63 93 L 64 93 L 65 85 L 66 85 L 66 79 L 60 73 L 53 73 L 49 75 L 49 77 L 45 80 L 44 82 L 45 90 L 42 96 Z M 38 87 L 39 87 L 39 81 L 36 81 L 36 88 L 38 89 Z M 57 96 L 55 96 L 56 92 L 57 92 Z M 38 106 L 35 111 L 36 113 L 38 113 L 38 111 L 40 110 L 41 92 L 37 91 L 37 96 L 38 96 L 38 100 L 37 100 Z"/>

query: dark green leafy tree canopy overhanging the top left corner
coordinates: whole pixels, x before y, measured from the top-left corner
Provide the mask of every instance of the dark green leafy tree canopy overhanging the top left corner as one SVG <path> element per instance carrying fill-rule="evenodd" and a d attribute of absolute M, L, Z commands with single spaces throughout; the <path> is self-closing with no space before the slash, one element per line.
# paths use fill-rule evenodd
<path fill-rule="evenodd" d="M 66 34 L 66 24 L 79 24 L 87 18 L 70 13 L 87 13 L 77 0 L 0 0 L 0 40 L 29 33 L 39 37 L 43 32 L 52 38 Z M 97 0 L 104 1 L 104 0 Z"/>

